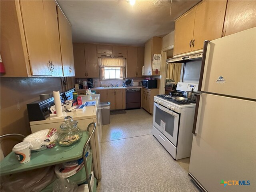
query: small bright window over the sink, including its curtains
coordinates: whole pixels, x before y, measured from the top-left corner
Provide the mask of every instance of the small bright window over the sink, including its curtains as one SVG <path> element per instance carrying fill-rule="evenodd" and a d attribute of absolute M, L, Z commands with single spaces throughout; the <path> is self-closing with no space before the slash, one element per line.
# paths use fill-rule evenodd
<path fill-rule="evenodd" d="M 98 58 L 100 79 L 124 79 L 126 70 L 126 59 L 122 57 L 100 57 Z"/>

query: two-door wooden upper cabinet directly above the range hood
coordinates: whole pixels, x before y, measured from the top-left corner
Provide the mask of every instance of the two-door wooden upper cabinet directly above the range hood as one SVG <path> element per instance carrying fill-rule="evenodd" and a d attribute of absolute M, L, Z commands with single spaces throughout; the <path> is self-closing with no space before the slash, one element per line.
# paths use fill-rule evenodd
<path fill-rule="evenodd" d="M 175 21 L 174 55 L 200 50 L 222 36 L 226 0 L 202 1 Z"/>

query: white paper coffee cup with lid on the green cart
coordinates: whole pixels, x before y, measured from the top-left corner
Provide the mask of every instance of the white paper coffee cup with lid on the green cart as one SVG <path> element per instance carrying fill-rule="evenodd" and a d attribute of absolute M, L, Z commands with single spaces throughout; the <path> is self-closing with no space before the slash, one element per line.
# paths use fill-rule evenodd
<path fill-rule="evenodd" d="M 23 141 L 16 144 L 12 151 L 16 154 L 16 157 L 20 164 L 24 164 L 30 161 L 30 146 L 31 143 L 28 141 Z"/>

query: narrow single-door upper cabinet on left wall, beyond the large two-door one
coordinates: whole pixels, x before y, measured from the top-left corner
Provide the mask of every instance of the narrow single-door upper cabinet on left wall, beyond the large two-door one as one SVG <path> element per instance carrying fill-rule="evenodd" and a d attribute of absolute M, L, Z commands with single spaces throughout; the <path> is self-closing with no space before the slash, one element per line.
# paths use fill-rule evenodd
<path fill-rule="evenodd" d="M 57 10 L 63 76 L 75 76 L 71 26 L 59 7 Z"/>

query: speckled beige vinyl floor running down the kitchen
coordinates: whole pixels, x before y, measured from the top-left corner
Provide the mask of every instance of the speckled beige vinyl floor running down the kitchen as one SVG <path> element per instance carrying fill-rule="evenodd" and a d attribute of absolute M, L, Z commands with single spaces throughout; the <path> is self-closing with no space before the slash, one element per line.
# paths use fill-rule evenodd
<path fill-rule="evenodd" d="M 175 161 L 152 135 L 144 109 L 110 116 L 102 130 L 102 178 L 97 192 L 198 192 L 189 158 Z"/>

